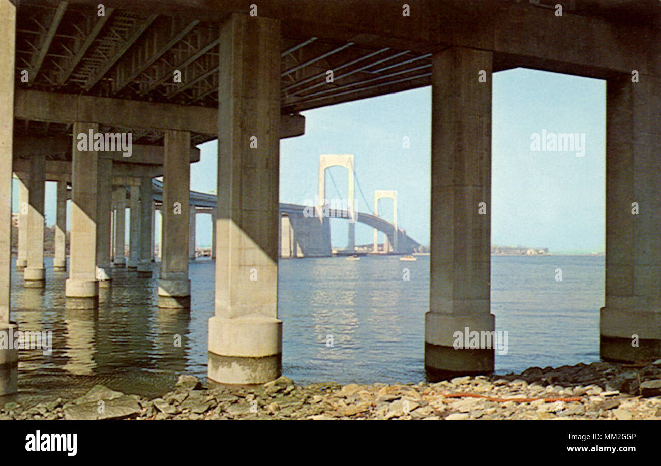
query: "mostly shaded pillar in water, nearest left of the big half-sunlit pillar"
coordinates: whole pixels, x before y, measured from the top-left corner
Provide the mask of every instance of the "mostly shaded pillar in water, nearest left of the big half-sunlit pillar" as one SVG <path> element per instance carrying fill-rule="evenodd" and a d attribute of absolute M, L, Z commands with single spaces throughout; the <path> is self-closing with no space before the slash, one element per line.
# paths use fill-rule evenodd
<path fill-rule="evenodd" d="M 166 130 L 163 151 L 163 257 L 159 307 L 190 309 L 188 280 L 188 193 L 190 133 Z"/>

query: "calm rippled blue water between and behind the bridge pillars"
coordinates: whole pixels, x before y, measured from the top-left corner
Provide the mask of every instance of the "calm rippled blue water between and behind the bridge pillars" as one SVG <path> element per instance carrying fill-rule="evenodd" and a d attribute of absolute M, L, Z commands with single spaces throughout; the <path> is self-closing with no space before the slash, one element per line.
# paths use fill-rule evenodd
<path fill-rule="evenodd" d="M 509 344 L 507 355 L 496 354 L 496 371 L 599 359 L 603 256 L 494 256 L 491 263 L 491 309 Z M 45 290 L 23 288 L 12 272 L 13 320 L 21 330 L 52 330 L 54 340 L 50 356 L 20 353 L 19 401 L 71 397 L 95 383 L 157 395 L 184 371 L 206 377 L 212 262 L 190 264 L 190 314 L 158 309 L 158 264 L 152 278 L 115 270 L 97 311 L 65 309 L 67 274 L 52 271 L 52 258 L 46 269 Z M 421 381 L 428 277 L 428 256 L 281 260 L 283 373 L 299 383 Z"/>

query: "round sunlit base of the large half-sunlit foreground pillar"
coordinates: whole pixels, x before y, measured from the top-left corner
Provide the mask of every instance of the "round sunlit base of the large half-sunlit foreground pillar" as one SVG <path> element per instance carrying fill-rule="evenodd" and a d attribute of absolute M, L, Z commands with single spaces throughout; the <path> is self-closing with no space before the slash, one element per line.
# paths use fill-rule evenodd
<path fill-rule="evenodd" d="M 254 314 L 209 319 L 208 378 L 217 383 L 252 384 L 282 373 L 282 321 Z"/>

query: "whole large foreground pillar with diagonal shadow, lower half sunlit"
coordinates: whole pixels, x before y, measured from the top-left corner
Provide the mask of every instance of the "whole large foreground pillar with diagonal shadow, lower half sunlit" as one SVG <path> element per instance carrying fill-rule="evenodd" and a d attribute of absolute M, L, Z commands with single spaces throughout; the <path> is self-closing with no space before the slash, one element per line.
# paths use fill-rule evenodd
<path fill-rule="evenodd" d="M 221 25 L 219 52 L 215 315 L 209 319 L 208 377 L 263 383 L 280 376 L 282 362 L 280 21 L 231 15 Z"/>

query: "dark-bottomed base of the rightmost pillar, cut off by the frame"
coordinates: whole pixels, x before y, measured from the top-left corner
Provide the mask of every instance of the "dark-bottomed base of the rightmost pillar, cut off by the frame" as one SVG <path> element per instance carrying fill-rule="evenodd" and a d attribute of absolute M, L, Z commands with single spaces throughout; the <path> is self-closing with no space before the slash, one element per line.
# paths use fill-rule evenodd
<path fill-rule="evenodd" d="M 661 313 L 602 307 L 600 356 L 604 361 L 623 363 L 660 359 Z"/>

